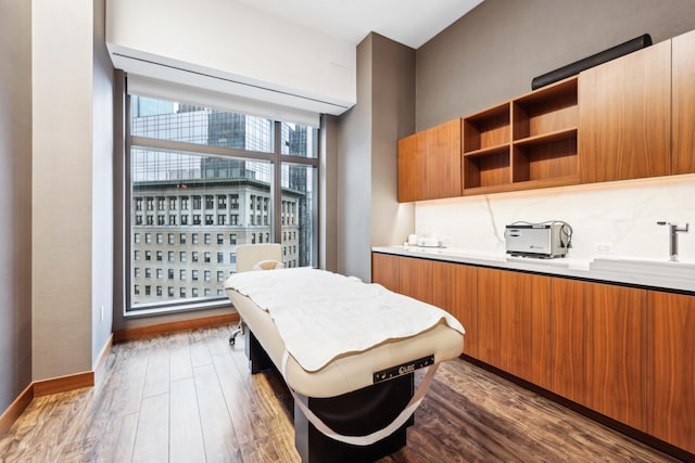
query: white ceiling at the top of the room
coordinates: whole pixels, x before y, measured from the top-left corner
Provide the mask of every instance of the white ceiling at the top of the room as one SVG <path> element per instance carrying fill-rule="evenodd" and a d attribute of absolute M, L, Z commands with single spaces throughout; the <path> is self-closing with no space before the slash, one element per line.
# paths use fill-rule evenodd
<path fill-rule="evenodd" d="M 482 0 L 237 0 L 355 46 L 374 31 L 420 48 Z"/>

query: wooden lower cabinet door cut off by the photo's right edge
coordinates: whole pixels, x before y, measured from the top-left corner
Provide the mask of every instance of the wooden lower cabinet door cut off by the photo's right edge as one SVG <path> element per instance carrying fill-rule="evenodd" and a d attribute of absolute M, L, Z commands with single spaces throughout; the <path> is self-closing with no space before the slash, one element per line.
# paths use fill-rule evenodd
<path fill-rule="evenodd" d="M 649 429 L 695 453 L 695 297 L 649 292 Z"/>

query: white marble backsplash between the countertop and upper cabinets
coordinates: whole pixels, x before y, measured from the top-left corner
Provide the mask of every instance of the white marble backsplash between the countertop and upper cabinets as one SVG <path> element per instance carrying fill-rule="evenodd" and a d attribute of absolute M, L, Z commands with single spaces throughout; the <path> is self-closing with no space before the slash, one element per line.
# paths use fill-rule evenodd
<path fill-rule="evenodd" d="M 415 233 L 463 249 L 504 253 L 505 226 L 519 220 L 570 223 L 568 257 L 583 259 L 668 260 L 669 231 L 656 222 L 690 223 L 690 231 L 678 236 L 679 257 L 695 262 L 695 175 L 438 200 L 415 207 Z"/>

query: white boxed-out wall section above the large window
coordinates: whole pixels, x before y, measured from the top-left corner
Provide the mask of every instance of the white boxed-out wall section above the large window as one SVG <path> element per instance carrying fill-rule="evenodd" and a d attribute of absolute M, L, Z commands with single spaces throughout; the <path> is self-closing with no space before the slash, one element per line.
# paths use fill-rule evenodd
<path fill-rule="evenodd" d="M 106 42 L 124 70 L 137 63 L 121 65 L 117 54 L 270 89 L 262 94 L 268 100 L 289 93 L 345 107 L 356 101 L 355 46 L 346 40 L 233 0 L 109 0 L 106 8 Z M 160 70 L 151 77 L 175 78 L 174 69 Z M 205 86 L 200 77 L 189 79 Z"/>

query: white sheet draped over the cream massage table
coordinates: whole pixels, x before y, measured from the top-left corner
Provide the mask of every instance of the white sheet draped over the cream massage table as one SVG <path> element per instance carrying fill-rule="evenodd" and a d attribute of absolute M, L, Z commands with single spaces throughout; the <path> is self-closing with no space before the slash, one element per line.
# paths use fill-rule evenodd
<path fill-rule="evenodd" d="M 311 268 L 237 273 L 225 288 L 266 310 L 288 352 L 308 372 L 345 353 L 415 336 L 442 321 L 465 332 L 455 318 L 434 306 Z"/>

